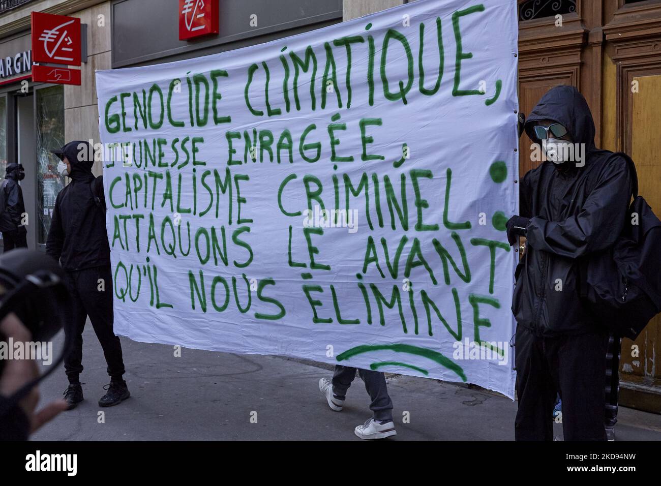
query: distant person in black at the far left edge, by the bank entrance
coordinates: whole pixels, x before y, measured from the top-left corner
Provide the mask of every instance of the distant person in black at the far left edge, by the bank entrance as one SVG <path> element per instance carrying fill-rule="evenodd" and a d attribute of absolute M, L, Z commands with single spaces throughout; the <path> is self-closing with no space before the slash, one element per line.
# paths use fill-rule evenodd
<path fill-rule="evenodd" d="M 19 181 L 24 179 L 23 167 L 17 163 L 7 164 L 5 181 L 0 193 L 0 231 L 2 231 L 3 251 L 27 248 L 27 230 L 22 223 L 25 214 L 23 191 Z"/>

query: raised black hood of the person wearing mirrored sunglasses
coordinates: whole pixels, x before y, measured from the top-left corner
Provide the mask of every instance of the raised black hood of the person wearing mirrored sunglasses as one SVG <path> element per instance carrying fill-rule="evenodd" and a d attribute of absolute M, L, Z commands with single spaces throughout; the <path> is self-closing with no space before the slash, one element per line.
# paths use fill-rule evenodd
<path fill-rule="evenodd" d="M 573 86 L 556 86 L 541 97 L 525 120 L 525 133 L 535 143 L 533 127 L 540 120 L 553 120 L 564 125 L 574 143 L 585 143 L 588 152 L 594 151 L 594 120 L 592 113 L 578 89 Z"/>

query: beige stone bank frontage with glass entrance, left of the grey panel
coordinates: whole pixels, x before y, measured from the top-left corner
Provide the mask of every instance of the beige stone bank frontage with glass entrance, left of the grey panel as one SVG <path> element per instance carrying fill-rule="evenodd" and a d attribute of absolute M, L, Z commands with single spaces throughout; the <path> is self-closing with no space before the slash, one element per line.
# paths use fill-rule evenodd
<path fill-rule="evenodd" d="M 81 85 L 32 81 L 30 13 L 79 17 L 87 30 Z M 25 168 L 21 182 L 28 247 L 44 249 L 55 198 L 63 187 L 50 149 L 65 140 L 98 140 L 95 70 L 110 69 L 110 1 L 0 2 L 0 178 L 5 161 Z M 100 165 L 95 167 L 100 173 Z"/>

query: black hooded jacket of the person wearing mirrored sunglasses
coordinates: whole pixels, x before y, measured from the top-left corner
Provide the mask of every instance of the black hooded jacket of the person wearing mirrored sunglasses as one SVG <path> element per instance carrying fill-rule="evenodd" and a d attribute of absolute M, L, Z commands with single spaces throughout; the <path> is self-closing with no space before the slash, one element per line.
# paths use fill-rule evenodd
<path fill-rule="evenodd" d="M 621 233 L 631 200 L 628 163 L 595 147 L 592 114 L 576 88 L 555 87 L 533 108 L 525 122 L 533 142 L 541 144 L 533 127 L 545 119 L 585 144 L 584 165 L 567 161 L 559 170 L 545 161 L 522 179 L 520 213 L 530 220 L 512 311 L 519 325 L 539 336 L 603 332 L 580 298 L 579 268 Z"/>

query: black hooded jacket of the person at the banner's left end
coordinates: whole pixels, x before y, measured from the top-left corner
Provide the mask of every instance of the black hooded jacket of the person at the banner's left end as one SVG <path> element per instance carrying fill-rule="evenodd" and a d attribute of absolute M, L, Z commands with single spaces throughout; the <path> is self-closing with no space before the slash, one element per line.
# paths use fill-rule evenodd
<path fill-rule="evenodd" d="M 110 265 L 103 184 L 92 174 L 91 146 L 75 141 L 52 152 L 69 160 L 71 182 L 56 198 L 46 253 L 67 271 Z"/>

